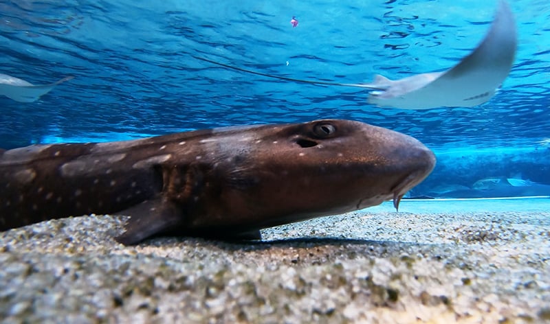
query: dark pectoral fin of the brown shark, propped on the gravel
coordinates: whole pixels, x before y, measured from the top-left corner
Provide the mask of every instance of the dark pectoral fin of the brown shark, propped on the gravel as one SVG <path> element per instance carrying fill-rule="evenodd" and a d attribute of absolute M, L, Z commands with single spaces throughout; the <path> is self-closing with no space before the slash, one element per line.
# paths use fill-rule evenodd
<path fill-rule="evenodd" d="M 118 214 L 131 217 L 126 231 L 115 238 L 124 245 L 137 244 L 152 235 L 172 230 L 184 220 L 181 208 L 166 198 L 147 200 Z"/>

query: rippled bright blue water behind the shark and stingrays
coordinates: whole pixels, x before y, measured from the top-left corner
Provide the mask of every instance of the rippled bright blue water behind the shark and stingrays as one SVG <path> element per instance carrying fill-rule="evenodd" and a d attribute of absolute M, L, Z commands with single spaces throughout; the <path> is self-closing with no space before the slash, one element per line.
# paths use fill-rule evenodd
<path fill-rule="evenodd" d="M 518 53 L 496 96 L 406 111 L 369 105 L 362 89 L 271 80 L 192 55 L 349 83 L 443 71 L 481 41 L 496 1 L 1 1 L 0 73 L 35 84 L 75 78 L 38 102 L 0 97 L 0 147 L 345 118 L 432 148 L 441 159 L 421 192 L 489 176 L 550 185 L 550 3 L 510 5 Z M 449 174 L 459 160 L 470 163 Z"/>

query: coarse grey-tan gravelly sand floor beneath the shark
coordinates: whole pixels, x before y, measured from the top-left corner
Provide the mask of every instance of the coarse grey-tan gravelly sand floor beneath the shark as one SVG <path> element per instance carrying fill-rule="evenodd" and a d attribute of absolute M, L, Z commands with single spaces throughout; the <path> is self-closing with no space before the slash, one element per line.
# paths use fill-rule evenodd
<path fill-rule="evenodd" d="M 3 323 L 550 321 L 550 199 L 404 201 L 263 231 L 157 238 L 126 218 L 0 233 Z M 3 320 L 2 320 L 3 319 Z"/>

